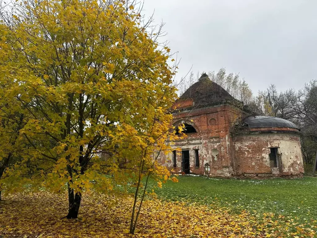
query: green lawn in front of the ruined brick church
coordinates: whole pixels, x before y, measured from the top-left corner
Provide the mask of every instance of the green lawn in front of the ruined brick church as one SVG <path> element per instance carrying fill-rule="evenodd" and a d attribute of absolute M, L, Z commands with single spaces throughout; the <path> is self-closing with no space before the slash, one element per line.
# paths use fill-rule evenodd
<path fill-rule="evenodd" d="M 180 175 L 179 182 L 155 188 L 163 200 L 198 202 L 239 212 L 272 212 L 302 221 L 317 220 L 317 178 L 303 179 L 207 179 Z"/>

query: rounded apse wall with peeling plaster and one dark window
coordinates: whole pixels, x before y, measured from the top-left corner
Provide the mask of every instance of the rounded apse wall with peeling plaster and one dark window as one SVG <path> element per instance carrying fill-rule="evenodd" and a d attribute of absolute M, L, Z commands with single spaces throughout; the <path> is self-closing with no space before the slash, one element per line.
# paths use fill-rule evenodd
<path fill-rule="evenodd" d="M 233 137 L 233 144 L 238 176 L 302 176 L 304 172 L 299 135 L 254 133 Z M 270 148 L 277 148 L 278 169 L 270 167 Z"/>

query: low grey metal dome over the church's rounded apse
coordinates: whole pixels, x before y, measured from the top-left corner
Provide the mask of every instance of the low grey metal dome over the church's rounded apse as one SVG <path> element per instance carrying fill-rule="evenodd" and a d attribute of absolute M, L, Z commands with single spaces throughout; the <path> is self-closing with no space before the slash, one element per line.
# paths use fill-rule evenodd
<path fill-rule="evenodd" d="M 290 127 L 299 129 L 293 122 L 273 116 L 249 116 L 243 120 L 242 126 L 249 128 Z"/>

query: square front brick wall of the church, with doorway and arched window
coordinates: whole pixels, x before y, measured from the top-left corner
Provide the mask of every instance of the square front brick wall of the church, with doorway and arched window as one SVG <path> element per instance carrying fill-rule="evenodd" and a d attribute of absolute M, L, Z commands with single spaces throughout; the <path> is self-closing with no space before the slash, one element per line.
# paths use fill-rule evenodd
<path fill-rule="evenodd" d="M 173 142 L 173 149 L 189 150 L 190 172 L 204 175 L 205 163 L 210 164 L 210 175 L 230 177 L 233 175 L 233 144 L 230 125 L 235 118 L 234 110 L 226 105 L 202 108 L 190 112 L 183 110 L 174 115 L 174 123 L 188 123 L 197 133 L 190 133 Z M 172 149 L 172 150 L 173 150 Z M 195 152 L 198 149 L 199 167 L 195 166 Z M 176 156 L 177 167 L 172 167 L 172 153 L 161 155 L 160 159 L 171 171 L 182 171 L 182 154 Z"/>

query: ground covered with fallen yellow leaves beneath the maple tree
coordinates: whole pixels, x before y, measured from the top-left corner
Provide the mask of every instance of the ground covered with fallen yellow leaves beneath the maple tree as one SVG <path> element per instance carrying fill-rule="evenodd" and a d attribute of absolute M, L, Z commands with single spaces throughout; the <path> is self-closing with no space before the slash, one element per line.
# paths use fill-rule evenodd
<path fill-rule="evenodd" d="M 0 237 L 131 237 L 132 198 L 83 197 L 80 218 L 61 219 L 67 197 L 42 192 L 0 202 Z M 316 221 L 299 224 L 272 214 L 228 213 L 215 205 L 146 200 L 134 237 L 316 237 Z"/>

